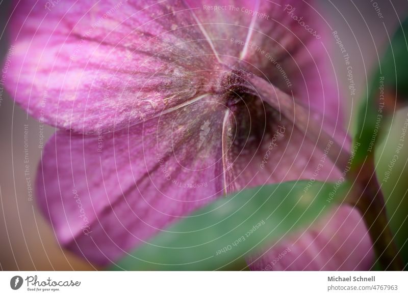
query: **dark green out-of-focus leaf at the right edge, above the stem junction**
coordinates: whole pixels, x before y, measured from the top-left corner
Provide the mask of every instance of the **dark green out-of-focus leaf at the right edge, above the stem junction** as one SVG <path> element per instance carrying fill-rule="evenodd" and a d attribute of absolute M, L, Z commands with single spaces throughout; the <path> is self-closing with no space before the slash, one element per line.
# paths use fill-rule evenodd
<path fill-rule="evenodd" d="M 408 102 L 408 43 L 405 32 L 408 33 L 408 18 L 392 37 L 369 83 L 368 94 L 361 103 L 354 137 L 354 147 L 358 149 L 352 170 L 360 169 L 367 156 L 373 157 L 378 138 L 386 127 L 386 110 L 394 110 L 394 100 L 389 99 L 396 96 L 400 100 L 397 104 L 401 106 Z"/>

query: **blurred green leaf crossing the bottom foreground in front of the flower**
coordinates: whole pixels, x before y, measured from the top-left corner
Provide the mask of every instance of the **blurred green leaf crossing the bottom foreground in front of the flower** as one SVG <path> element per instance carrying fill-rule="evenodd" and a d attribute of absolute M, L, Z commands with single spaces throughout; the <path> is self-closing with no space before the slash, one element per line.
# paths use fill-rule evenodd
<path fill-rule="evenodd" d="M 110 269 L 242 269 L 248 252 L 309 227 L 348 188 L 298 181 L 243 190 L 173 224 Z"/>

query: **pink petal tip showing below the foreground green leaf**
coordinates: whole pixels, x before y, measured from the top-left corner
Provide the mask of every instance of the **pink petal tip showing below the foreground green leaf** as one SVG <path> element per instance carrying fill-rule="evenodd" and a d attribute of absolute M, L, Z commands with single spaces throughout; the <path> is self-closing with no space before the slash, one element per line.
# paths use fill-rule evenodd
<path fill-rule="evenodd" d="M 256 271 L 369 270 L 374 251 L 357 210 L 343 205 L 299 236 L 285 238 L 269 250 L 252 255 Z"/>

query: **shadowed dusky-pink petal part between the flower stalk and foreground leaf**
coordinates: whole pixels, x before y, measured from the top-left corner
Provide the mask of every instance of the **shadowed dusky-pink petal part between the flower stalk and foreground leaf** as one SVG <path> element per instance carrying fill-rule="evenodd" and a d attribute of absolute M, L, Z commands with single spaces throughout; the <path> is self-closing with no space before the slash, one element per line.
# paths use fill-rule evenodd
<path fill-rule="evenodd" d="M 334 142 L 327 141 L 326 151 L 303 133 L 294 123 L 260 99 L 252 110 L 238 107 L 228 114 L 225 123 L 227 190 L 229 193 L 245 187 L 294 180 L 336 182 L 342 176 L 327 157 Z M 289 102 L 291 103 L 291 102 Z M 285 102 L 283 103 L 285 104 Z M 320 121 L 319 121 L 320 119 Z M 324 117 L 312 116 L 314 124 L 334 134 L 340 145 L 349 149 L 350 139 L 335 129 Z"/>

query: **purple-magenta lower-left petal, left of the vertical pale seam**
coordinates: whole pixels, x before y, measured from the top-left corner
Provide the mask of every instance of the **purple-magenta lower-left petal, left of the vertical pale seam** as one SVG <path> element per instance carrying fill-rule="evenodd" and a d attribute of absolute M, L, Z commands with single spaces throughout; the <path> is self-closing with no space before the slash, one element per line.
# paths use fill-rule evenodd
<path fill-rule="evenodd" d="M 205 97 L 101 138 L 57 132 L 37 188 L 59 241 L 92 262 L 110 263 L 222 195 L 225 112 Z"/>

